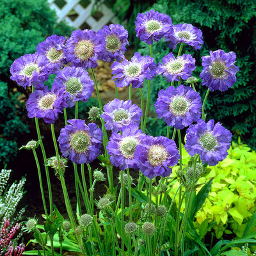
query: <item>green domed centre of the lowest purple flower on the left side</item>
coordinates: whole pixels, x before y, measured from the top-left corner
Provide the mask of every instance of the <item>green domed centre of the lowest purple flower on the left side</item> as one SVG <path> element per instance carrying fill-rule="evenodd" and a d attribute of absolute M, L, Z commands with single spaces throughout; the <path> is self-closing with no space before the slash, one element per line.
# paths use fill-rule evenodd
<path fill-rule="evenodd" d="M 77 131 L 71 136 L 70 146 L 77 153 L 85 153 L 88 150 L 90 144 L 90 136 L 86 131 Z"/>

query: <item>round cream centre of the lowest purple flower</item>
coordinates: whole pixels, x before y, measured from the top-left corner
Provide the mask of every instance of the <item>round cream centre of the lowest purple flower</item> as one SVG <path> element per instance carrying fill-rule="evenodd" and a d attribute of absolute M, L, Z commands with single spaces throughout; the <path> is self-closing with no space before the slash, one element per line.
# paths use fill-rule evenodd
<path fill-rule="evenodd" d="M 166 161 L 168 152 L 161 145 L 152 145 L 148 150 L 148 162 L 152 166 L 157 166 Z"/>

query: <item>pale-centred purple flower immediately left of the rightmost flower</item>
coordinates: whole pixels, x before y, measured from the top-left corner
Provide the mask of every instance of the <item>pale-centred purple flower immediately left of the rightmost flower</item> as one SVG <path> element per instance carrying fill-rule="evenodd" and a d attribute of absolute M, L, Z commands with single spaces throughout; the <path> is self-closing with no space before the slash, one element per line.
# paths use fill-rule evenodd
<path fill-rule="evenodd" d="M 173 53 L 170 52 L 164 56 L 162 61 L 164 64 L 159 62 L 156 72 L 166 77 L 167 82 L 179 81 L 180 78 L 186 80 L 196 68 L 196 61 L 190 54 L 183 54 L 175 58 Z"/>

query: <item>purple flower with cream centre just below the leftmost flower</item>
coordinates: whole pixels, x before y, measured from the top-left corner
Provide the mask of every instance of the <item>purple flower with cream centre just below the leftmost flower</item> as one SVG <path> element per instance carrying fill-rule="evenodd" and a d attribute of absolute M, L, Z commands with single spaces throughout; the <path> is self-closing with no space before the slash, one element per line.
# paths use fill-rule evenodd
<path fill-rule="evenodd" d="M 35 90 L 29 95 L 26 108 L 29 118 L 43 118 L 48 124 L 54 124 L 63 108 L 67 108 L 63 90 L 51 92 L 47 86 L 42 90 Z"/>

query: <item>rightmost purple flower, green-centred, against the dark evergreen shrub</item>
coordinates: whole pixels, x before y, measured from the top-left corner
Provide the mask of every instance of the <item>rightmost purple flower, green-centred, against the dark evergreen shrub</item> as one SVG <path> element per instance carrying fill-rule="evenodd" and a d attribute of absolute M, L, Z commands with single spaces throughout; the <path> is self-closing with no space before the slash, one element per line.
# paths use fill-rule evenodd
<path fill-rule="evenodd" d="M 228 87 L 236 82 L 236 72 L 239 67 L 235 66 L 236 53 L 218 50 L 210 51 L 210 56 L 202 57 L 202 66 L 204 67 L 200 77 L 203 79 L 202 85 L 206 85 L 212 92 L 220 90 L 225 92 Z"/>

